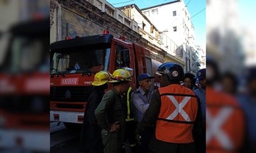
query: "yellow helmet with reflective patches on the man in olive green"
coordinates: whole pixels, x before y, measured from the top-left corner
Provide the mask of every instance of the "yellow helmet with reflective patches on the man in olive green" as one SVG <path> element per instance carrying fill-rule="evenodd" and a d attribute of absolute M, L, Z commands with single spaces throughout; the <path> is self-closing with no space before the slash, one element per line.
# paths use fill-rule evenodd
<path fill-rule="evenodd" d="M 113 72 L 111 80 L 109 82 L 116 83 L 116 82 L 124 82 L 124 81 L 131 81 L 132 75 L 127 69 L 116 69 Z"/>

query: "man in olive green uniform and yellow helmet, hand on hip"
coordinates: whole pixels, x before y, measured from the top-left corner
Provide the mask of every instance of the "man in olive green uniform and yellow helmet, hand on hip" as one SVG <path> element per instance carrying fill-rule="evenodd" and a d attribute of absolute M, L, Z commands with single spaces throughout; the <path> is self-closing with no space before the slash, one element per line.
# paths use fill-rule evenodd
<path fill-rule="evenodd" d="M 122 95 L 128 91 L 131 73 L 126 69 L 116 69 L 111 77 L 113 89 L 104 94 L 95 110 L 99 126 L 102 128 L 102 142 L 105 153 L 122 152 L 125 131 L 125 113 Z"/>

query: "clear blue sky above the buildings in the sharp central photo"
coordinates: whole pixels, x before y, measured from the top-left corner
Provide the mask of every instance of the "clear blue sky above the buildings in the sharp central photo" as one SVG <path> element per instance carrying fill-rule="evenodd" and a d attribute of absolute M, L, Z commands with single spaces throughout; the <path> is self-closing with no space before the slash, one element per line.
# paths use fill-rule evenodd
<path fill-rule="evenodd" d="M 147 8 L 155 6 L 157 4 L 168 3 L 173 0 L 107 0 L 113 6 L 120 7 L 127 4 L 136 4 L 139 8 Z M 121 3 L 121 4 L 117 4 Z M 184 0 L 185 4 L 188 4 L 187 9 L 190 13 L 190 17 L 195 27 L 195 44 L 205 47 L 205 0 Z M 203 10 L 203 11 L 202 11 Z M 201 12 L 200 12 L 201 11 Z M 200 12 L 200 13 L 199 13 Z M 197 14 L 198 13 L 198 14 Z M 197 15 L 196 15 L 197 14 Z M 195 15 L 195 17 L 193 17 Z"/>

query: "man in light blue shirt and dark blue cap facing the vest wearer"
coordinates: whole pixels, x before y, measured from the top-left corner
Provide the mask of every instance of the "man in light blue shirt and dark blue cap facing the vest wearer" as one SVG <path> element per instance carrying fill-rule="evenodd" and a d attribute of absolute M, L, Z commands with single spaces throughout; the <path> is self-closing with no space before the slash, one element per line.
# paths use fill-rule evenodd
<path fill-rule="evenodd" d="M 131 100 L 134 108 L 135 119 L 137 122 L 140 122 L 143 113 L 146 112 L 149 103 L 151 101 L 152 91 L 150 91 L 151 87 L 151 77 L 148 73 L 142 73 L 138 76 L 137 80 L 140 87 L 137 91 L 132 93 Z M 143 135 L 141 135 L 141 145 L 138 147 L 138 152 L 148 152 L 148 143 L 152 137 L 153 129 L 147 129 Z"/>

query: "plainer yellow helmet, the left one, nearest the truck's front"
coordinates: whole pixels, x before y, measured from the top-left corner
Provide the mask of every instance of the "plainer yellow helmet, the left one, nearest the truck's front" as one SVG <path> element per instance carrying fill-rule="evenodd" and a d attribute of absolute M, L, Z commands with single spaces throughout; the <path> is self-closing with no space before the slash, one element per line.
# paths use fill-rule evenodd
<path fill-rule="evenodd" d="M 104 85 L 109 81 L 109 73 L 107 71 L 99 71 L 94 76 L 94 81 L 92 82 L 92 85 L 94 86 L 100 86 Z"/>

